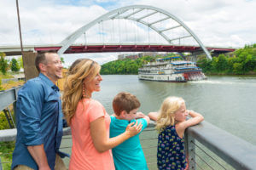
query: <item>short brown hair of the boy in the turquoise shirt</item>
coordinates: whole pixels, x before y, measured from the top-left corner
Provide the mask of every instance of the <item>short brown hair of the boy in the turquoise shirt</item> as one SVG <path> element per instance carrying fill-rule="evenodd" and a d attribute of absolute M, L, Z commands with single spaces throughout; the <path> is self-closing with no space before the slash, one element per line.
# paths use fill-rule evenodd
<path fill-rule="evenodd" d="M 130 111 L 139 108 L 141 103 L 135 95 L 120 92 L 113 98 L 112 106 L 114 113 L 119 116 L 122 111 L 126 111 L 129 114 Z"/>

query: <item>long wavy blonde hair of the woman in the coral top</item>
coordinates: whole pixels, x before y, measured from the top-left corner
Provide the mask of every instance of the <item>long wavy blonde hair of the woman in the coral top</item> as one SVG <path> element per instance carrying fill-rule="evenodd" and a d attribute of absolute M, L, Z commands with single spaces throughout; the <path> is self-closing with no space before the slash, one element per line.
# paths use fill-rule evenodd
<path fill-rule="evenodd" d="M 90 82 L 101 70 L 101 65 L 91 59 L 77 59 L 68 70 L 62 95 L 62 111 L 70 124 L 79 100 L 83 98 L 83 82 Z"/>

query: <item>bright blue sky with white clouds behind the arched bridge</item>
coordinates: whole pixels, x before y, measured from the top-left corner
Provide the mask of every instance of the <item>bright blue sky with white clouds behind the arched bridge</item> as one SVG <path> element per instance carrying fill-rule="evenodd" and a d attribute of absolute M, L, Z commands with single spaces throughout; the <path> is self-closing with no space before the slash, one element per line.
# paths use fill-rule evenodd
<path fill-rule="evenodd" d="M 0 46 L 20 45 L 15 2 L 0 0 Z M 256 42 L 256 0 L 20 0 L 23 44 L 60 43 L 73 31 L 102 14 L 135 4 L 161 8 L 175 15 L 194 31 L 205 46 L 242 48 L 245 44 Z M 137 37 L 140 40 L 151 39 L 152 42 L 154 38 L 157 39 L 154 32 L 145 31 L 147 28 L 134 22 L 126 23 L 125 21 L 121 23 L 122 26 L 118 26 L 120 23 L 113 22 L 112 29 L 111 24 L 99 24 L 86 33 L 87 37 L 79 39 L 88 43 L 97 38 L 102 41 L 99 32 L 116 27 L 122 27 L 123 31 L 128 32 L 126 39 Z M 132 26 L 137 28 L 132 30 Z M 110 35 L 108 38 L 118 41 L 118 37 L 119 35 Z M 94 59 L 103 64 L 117 59 L 118 54 L 120 53 L 65 54 L 63 57 L 65 66 L 68 66 L 79 58 Z"/>

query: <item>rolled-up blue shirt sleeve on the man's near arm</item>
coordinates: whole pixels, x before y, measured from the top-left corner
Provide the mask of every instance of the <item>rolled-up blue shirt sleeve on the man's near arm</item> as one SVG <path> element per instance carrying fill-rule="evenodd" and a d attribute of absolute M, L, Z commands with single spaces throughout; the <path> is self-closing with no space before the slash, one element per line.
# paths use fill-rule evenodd
<path fill-rule="evenodd" d="M 20 133 L 25 145 L 44 144 L 41 134 L 41 111 L 44 103 L 42 89 L 38 86 L 28 86 L 24 93 L 19 95 Z M 17 105 L 17 106 L 18 106 Z"/>

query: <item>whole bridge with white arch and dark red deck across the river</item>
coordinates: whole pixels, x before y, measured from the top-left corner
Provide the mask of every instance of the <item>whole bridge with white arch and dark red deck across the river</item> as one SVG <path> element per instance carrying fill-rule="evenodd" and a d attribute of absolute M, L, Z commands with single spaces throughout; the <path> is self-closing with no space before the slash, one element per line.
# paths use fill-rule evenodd
<path fill-rule="evenodd" d="M 96 39 L 96 37 L 90 36 L 92 32 L 95 33 L 93 35 L 97 34 L 100 37 L 100 42 L 92 42 Z M 152 35 L 160 38 L 160 40 L 154 41 Z M 83 39 L 83 36 L 84 42 L 79 41 Z M 145 37 L 148 38 L 148 42 L 143 41 Z M 111 42 L 110 39 L 113 41 Z M 24 49 L 25 51 L 54 49 L 58 50 L 59 54 L 190 52 L 192 54 L 205 53 L 209 59 L 212 59 L 209 51 L 220 54 L 235 50 L 235 48 L 206 48 L 182 20 L 166 10 L 146 5 L 132 5 L 114 9 L 74 31 L 59 44 L 25 45 Z M 0 47 L 0 51 L 7 55 L 20 54 L 20 48 L 17 47 Z"/>

